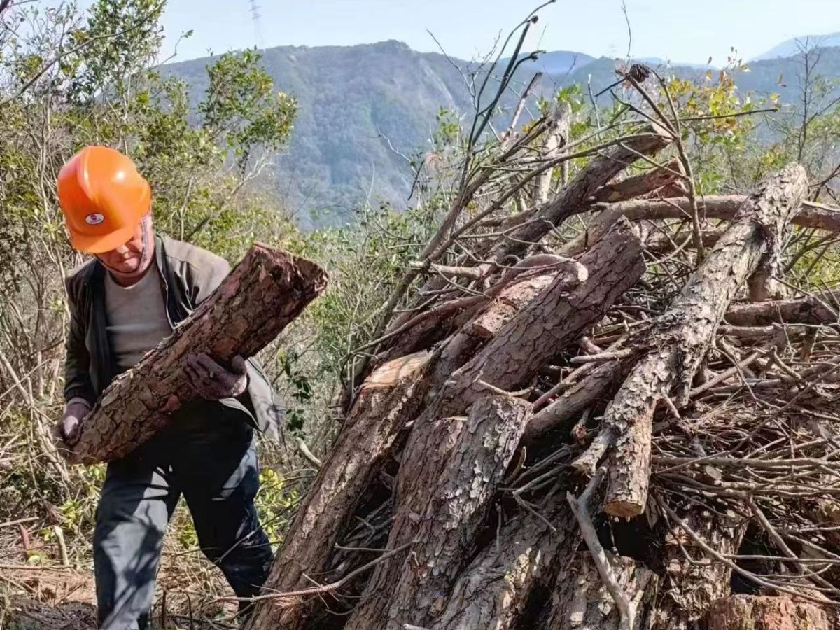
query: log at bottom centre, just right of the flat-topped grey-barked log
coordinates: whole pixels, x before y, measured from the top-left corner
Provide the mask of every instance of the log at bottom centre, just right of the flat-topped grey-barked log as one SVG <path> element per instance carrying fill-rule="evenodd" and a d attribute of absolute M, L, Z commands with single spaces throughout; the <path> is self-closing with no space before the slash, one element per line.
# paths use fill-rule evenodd
<path fill-rule="evenodd" d="M 544 520 L 531 512 L 519 514 L 470 562 L 455 583 L 444 612 L 429 630 L 516 627 L 538 585 L 555 575 L 567 579 L 580 543 L 575 517 L 559 496 L 537 510 Z"/>

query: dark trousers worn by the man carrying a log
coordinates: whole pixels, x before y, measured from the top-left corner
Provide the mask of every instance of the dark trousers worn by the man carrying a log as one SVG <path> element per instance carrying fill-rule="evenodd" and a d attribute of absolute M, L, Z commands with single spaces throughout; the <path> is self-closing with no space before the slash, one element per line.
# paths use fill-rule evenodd
<path fill-rule="evenodd" d="M 106 630 L 148 627 L 163 536 L 181 494 L 203 554 L 237 596 L 255 595 L 268 575 L 271 549 L 254 507 L 260 472 L 253 429 L 218 402 L 178 416 L 108 465 L 93 537 L 99 623 Z"/>

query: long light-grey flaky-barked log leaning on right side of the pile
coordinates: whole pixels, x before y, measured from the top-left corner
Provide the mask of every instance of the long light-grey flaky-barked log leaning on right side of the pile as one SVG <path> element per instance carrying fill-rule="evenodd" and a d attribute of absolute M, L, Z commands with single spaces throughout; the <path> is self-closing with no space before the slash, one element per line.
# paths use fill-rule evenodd
<path fill-rule="evenodd" d="M 642 513 L 648 498 L 650 440 L 654 411 L 673 390 L 680 402 L 717 325 L 738 289 L 776 246 L 807 193 L 805 170 L 786 167 L 748 197 L 706 261 L 690 277 L 668 312 L 654 321 L 643 345 L 650 348 L 606 410 L 601 433 L 575 467 L 592 474 L 612 450 L 604 511 L 612 516 Z"/>

